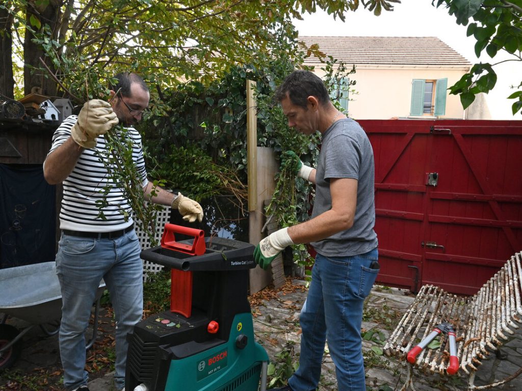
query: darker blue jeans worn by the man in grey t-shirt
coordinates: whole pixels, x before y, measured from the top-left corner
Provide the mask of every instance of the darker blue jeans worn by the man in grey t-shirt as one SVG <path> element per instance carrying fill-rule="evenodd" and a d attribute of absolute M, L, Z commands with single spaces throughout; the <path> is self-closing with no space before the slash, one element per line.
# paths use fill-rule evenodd
<path fill-rule="evenodd" d="M 317 254 L 312 282 L 301 310 L 299 369 L 288 384 L 294 391 L 317 388 L 325 342 L 334 361 L 339 391 L 365 391 L 361 322 L 363 302 L 370 294 L 378 269 L 374 249 L 355 256 Z"/>

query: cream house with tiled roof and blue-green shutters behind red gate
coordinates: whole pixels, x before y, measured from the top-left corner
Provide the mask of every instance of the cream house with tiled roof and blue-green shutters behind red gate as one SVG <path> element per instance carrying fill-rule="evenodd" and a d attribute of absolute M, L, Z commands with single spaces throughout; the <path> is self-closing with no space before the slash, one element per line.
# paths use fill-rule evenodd
<path fill-rule="evenodd" d="M 350 79 L 337 81 L 333 98 L 355 119 L 489 119 L 483 99 L 466 111 L 447 88 L 466 74 L 471 63 L 434 37 L 300 36 L 307 47 L 317 45 L 347 68 Z M 305 65 L 325 77 L 315 56 Z"/>

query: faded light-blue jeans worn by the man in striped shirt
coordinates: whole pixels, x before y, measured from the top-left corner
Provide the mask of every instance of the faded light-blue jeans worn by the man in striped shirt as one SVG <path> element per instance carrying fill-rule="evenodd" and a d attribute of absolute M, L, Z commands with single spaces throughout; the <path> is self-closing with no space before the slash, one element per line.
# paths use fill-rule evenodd
<path fill-rule="evenodd" d="M 92 303 L 103 278 L 111 295 L 116 320 L 116 389 L 124 387 L 127 333 L 143 314 L 143 263 L 134 230 L 116 239 L 63 235 L 56 254 L 56 273 L 62 288 L 60 355 L 64 386 L 87 384 L 85 331 Z"/>

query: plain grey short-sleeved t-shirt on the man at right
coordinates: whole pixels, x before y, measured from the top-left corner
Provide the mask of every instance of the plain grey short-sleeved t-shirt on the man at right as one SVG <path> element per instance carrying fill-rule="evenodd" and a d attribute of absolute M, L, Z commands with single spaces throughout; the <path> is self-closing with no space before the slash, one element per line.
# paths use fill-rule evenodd
<path fill-rule="evenodd" d="M 357 184 L 357 207 L 353 226 L 326 239 L 312 242 L 324 256 L 364 254 L 377 247 L 375 225 L 375 164 L 370 140 L 353 119 L 342 119 L 323 133 L 315 174 L 312 218 L 331 209 L 330 178 L 353 178 Z"/>

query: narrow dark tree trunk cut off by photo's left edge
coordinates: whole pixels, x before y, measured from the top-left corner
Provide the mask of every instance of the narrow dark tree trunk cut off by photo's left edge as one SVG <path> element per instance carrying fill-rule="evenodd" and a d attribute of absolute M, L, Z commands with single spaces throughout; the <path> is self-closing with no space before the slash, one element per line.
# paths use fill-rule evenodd
<path fill-rule="evenodd" d="M 7 9 L 0 8 L 0 99 L 14 99 L 15 80 L 13 79 L 13 38 L 11 37 L 13 16 Z"/>

